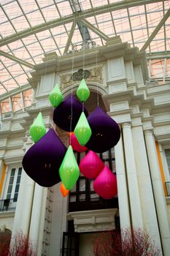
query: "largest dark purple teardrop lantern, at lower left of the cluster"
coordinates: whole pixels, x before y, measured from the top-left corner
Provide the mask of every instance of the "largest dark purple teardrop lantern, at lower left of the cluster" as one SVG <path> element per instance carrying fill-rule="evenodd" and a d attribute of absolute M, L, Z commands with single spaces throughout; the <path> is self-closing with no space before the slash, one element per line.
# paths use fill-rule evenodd
<path fill-rule="evenodd" d="M 66 147 L 53 129 L 49 131 L 23 157 L 23 169 L 42 187 L 52 187 L 61 181 L 59 167 Z"/>

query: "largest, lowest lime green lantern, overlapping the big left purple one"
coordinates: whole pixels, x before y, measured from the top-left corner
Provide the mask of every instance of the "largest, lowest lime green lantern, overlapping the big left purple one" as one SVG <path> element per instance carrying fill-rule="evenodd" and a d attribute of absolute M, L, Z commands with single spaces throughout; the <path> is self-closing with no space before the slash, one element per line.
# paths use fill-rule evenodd
<path fill-rule="evenodd" d="M 63 157 L 63 162 L 59 169 L 61 181 L 63 182 L 66 189 L 72 189 L 76 184 L 77 179 L 80 176 L 79 166 L 74 157 L 72 146 L 70 145 Z"/>

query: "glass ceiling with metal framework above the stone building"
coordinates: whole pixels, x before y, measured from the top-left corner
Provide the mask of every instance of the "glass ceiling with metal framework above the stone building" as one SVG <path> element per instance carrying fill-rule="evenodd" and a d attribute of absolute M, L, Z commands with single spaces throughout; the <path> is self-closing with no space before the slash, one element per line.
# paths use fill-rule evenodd
<path fill-rule="evenodd" d="M 0 7 L 2 116 L 31 105 L 27 79 L 45 53 L 80 50 L 83 39 L 104 45 L 120 36 L 146 50 L 151 80 L 170 80 L 169 0 L 1 0 Z"/>

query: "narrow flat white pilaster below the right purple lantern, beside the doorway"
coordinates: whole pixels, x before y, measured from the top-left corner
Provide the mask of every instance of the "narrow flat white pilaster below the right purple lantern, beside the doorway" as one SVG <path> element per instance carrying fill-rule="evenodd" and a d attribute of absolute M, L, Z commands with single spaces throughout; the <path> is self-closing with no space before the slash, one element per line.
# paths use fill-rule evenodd
<path fill-rule="evenodd" d="M 128 205 L 128 189 L 125 176 L 125 160 L 123 156 L 122 137 L 115 146 L 115 162 L 117 176 L 117 191 L 119 201 L 120 227 L 126 229 L 131 227 L 130 212 Z"/>

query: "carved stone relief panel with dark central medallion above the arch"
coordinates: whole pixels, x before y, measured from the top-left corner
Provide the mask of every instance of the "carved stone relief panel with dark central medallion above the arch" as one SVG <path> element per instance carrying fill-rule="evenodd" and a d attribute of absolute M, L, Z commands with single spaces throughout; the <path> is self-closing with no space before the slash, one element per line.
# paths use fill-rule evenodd
<path fill-rule="evenodd" d="M 73 75 L 71 73 L 61 74 L 61 89 L 72 86 L 73 82 L 80 81 L 82 78 L 85 78 L 87 82 L 102 83 L 102 67 L 103 66 L 100 65 L 89 70 L 79 69 L 77 72 L 74 72 Z"/>

